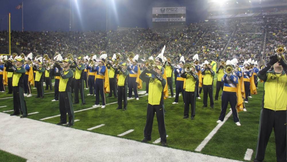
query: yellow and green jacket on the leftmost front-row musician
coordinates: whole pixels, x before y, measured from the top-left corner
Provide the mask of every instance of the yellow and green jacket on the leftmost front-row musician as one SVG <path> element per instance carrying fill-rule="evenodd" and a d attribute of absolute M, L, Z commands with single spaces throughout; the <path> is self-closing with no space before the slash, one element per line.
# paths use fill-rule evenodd
<path fill-rule="evenodd" d="M 19 86 L 19 87 L 24 88 L 24 75 L 26 73 L 25 68 L 23 68 L 22 66 L 20 68 L 17 68 L 16 66 L 12 66 L 12 67 L 7 67 L 6 71 L 13 73 L 13 79 L 12 79 L 13 87 Z"/>

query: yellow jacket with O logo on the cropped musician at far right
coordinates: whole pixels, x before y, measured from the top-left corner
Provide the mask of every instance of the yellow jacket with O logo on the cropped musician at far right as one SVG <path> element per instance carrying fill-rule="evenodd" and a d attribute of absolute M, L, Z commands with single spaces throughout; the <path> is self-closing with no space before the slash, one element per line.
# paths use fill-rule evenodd
<path fill-rule="evenodd" d="M 264 81 L 262 107 L 271 110 L 286 110 L 287 108 L 287 75 L 284 71 L 277 74 L 268 71 L 265 74 L 257 73 L 259 79 Z"/>

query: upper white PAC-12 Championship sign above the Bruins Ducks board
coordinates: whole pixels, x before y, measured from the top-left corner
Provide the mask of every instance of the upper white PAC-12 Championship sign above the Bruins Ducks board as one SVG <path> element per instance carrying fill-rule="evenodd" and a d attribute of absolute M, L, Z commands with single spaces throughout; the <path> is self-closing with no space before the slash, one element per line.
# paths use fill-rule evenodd
<path fill-rule="evenodd" d="M 185 14 L 185 7 L 152 7 L 152 14 Z"/>

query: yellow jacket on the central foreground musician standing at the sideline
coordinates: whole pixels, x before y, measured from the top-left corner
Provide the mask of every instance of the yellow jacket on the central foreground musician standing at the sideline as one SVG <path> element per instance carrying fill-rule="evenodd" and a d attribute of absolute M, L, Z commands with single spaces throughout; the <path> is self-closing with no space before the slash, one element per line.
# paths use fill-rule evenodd
<path fill-rule="evenodd" d="M 151 105 L 160 105 L 164 104 L 163 97 L 164 97 L 164 86 L 166 85 L 166 80 L 163 79 L 160 81 L 156 77 L 147 77 L 146 76 L 147 70 L 144 70 L 143 73 L 139 76 L 141 80 L 144 82 L 149 82 L 148 84 L 148 103 Z"/>

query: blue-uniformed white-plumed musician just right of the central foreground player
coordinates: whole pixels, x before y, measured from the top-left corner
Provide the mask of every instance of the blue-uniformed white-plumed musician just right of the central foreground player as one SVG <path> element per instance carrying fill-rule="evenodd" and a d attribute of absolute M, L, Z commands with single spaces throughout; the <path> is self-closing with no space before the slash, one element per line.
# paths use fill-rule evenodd
<path fill-rule="evenodd" d="M 183 97 L 183 103 L 185 102 L 184 100 L 184 90 L 183 90 L 183 83 L 184 83 L 184 78 L 182 78 L 180 75 L 183 73 L 183 65 L 184 65 L 184 56 L 181 56 L 179 60 L 179 66 L 174 67 L 174 74 L 177 74 L 177 82 L 175 85 L 175 99 L 172 104 L 178 104 L 179 102 L 179 92 L 181 92 L 182 97 Z"/>

